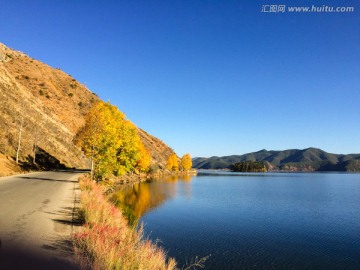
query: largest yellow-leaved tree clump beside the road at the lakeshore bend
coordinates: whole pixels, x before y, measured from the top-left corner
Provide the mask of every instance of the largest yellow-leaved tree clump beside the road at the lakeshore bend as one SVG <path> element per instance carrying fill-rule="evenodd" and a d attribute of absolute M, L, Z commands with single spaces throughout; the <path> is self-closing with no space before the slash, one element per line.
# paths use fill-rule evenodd
<path fill-rule="evenodd" d="M 92 160 L 95 178 L 144 172 L 150 155 L 142 144 L 136 127 L 110 103 L 98 102 L 86 117 L 75 143 Z"/>

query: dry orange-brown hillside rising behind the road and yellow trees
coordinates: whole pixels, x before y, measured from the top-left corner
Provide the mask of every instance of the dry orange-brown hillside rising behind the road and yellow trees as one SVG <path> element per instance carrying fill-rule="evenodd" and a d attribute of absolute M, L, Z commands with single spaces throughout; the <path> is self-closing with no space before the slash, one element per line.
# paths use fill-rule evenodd
<path fill-rule="evenodd" d="M 21 123 L 20 160 L 31 163 L 34 144 L 52 165 L 88 167 L 73 144 L 84 116 L 99 98 L 58 68 L 52 68 L 0 43 L 0 153 L 15 157 Z M 121 110 L 121 108 L 120 108 Z M 141 139 L 163 167 L 173 151 L 139 129 Z"/>

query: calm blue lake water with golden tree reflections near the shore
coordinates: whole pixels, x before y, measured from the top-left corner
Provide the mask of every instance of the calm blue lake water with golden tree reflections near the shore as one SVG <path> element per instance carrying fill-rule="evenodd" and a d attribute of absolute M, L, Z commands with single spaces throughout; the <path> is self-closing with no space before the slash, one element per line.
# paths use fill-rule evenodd
<path fill-rule="evenodd" d="M 360 174 L 200 173 L 115 197 L 180 267 L 360 269 Z"/>

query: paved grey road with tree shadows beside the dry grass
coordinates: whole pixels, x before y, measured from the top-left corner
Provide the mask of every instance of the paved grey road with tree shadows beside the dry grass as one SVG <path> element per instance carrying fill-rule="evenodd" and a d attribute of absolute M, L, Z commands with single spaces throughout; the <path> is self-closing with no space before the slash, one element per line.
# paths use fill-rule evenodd
<path fill-rule="evenodd" d="M 79 269 L 70 236 L 82 172 L 0 178 L 0 269 Z"/>

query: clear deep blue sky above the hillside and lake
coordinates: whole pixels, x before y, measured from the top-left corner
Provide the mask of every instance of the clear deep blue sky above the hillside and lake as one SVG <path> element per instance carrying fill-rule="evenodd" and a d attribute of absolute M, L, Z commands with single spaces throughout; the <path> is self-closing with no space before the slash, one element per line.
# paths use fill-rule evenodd
<path fill-rule="evenodd" d="M 280 4 L 355 11 L 262 12 Z M 179 155 L 360 153 L 359 0 L 2 0 L 0 42 Z"/>

